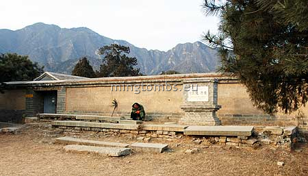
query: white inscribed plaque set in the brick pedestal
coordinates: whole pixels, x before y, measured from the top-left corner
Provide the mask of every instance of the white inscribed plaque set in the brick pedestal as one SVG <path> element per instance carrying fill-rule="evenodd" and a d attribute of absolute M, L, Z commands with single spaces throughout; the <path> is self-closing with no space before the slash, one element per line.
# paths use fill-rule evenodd
<path fill-rule="evenodd" d="M 209 86 L 190 88 L 187 101 L 209 101 Z"/>

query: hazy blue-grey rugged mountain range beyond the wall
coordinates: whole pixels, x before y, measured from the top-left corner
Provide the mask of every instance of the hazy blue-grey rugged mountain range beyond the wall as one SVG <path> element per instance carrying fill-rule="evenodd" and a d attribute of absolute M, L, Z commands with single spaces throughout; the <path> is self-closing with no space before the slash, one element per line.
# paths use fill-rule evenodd
<path fill-rule="evenodd" d="M 135 47 L 125 40 L 101 36 L 86 27 L 60 28 L 57 25 L 35 23 L 12 31 L 0 29 L 0 53 L 29 55 L 33 62 L 44 65 L 45 71 L 70 74 L 82 56 L 87 56 L 95 69 L 101 64 L 99 47 L 117 43 L 131 49 L 140 71 L 146 75 L 175 70 L 180 73 L 216 71 L 217 51 L 202 42 L 179 44 L 168 51 Z"/>

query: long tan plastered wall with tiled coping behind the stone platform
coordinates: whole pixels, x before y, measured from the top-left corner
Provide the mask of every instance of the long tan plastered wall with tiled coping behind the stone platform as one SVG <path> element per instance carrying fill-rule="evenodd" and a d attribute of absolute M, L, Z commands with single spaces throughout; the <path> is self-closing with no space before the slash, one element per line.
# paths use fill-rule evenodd
<path fill-rule="evenodd" d="M 80 79 L 67 81 L 27 81 L 14 83 L 12 89 L 0 95 L 0 109 L 5 116 L 22 114 L 13 112 L 23 110 L 27 116 L 42 112 L 40 90 L 57 90 L 57 113 L 59 114 L 112 114 L 112 101 L 116 99 L 118 108 L 114 116 L 127 115 L 134 102 L 144 105 L 146 114 L 163 121 L 179 121 L 184 114 L 181 110 L 183 99 L 183 82 L 187 79 L 218 79 L 218 105 L 222 107 L 217 112 L 222 125 L 298 125 L 308 131 L 308 108 L 303 107 L 292 114 L 278 113 L 275 116 L 264 114 L 257 110 L 249 99 L 244 85 L 239 84 L 236 77 L 226 77 L 218 73 L 198 73 L 181 75 L 155 75 L 144 77 L 109 77 L 95 79 Z M 177 84 L 177 91 L 142 91 L 135 90 L 112 91 L 112 85 L 165 85 Z M 193 83 L 192 83 L 193 84 Z M 16 88 L 24 90 L 16 90 Z M 146 89 L 146 86 L 144 86 Z M 179 90 L 181 89 L 181 91 Z M 34 97 L 25 98 L 25 91 Z M 5 112 L 4 112 L 5 110 Z M 2 118 L 3 118 L 2 114 Z M 14 116 L 14 115 L 12 115 Z M 21 116 L 21 115 L 18 115 Z"/>

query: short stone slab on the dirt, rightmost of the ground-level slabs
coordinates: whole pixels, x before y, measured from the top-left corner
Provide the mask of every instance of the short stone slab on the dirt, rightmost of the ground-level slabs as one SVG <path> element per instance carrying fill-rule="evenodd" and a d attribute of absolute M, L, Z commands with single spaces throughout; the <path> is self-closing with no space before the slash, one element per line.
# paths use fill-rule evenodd
<path fill-rule="evenodd" d="M 168 144 L 136 142 L 131 144 L 131 148 L 136 151 L 142 151 L 146 153 L 162 153 L 168 148 Z"/>

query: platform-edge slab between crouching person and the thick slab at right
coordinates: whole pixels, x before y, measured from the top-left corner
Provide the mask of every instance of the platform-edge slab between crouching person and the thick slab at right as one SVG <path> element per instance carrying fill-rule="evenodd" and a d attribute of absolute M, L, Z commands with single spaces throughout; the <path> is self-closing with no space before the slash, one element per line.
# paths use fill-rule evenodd
<path fill-rule="evenodd" d="M 188 127 L 187 125 L 163 124 L 163 125 L 142 125 L 142 130 L 148 131 L 181 131 Z"/>

